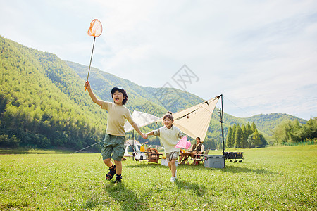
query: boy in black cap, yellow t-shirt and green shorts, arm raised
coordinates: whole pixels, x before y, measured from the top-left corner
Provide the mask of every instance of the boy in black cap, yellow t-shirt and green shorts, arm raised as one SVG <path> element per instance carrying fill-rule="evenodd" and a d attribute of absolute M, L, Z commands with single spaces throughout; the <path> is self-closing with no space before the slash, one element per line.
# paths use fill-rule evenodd
<path fill-rule="evenodd" d="M 111 89 L 113 102 L 106 102 L 97 99 L 92 92 L 92 88 L 90 87 L 88 81 L 85 83 L 85 87 L 87 88 L 92 101 L 101 106 L 102 109 L 108 110 L 107 129 L 104 138 L 104 145 L 101 149 L 101 155 L 104 160 L 104 164 L 109 167 L 109 172 L 106 174 L 106 180 L 110 181 L 114 174 L 117 174 L 115 183 L 121 182 L 121 159 L 125 153 L 125 120 L 130 122 L 132 127 L 140 136 L 142 136 L 142 138 L 147 139 L 147 136 L 139 130 L 137 124 L 132 120 L 130 110 L 123 106 L 128 101 L 128 95 L 124 89 L 113 87 L 113 89 Z M 111 158 L 114 160 L 115 165 L 111 162 Z"/>

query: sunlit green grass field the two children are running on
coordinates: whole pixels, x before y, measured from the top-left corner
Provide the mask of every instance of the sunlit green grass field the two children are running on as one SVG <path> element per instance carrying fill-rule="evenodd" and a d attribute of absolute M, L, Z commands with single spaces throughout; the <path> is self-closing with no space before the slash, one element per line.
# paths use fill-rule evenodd
<path fill-rule="evenodd" d="M 225 169 L 181 165 L 175 184 L 128 159 L 118 185 L 99 154 L 0 155 L 0 210 L 317 210 L 316 145 L 242 151 Z"/>

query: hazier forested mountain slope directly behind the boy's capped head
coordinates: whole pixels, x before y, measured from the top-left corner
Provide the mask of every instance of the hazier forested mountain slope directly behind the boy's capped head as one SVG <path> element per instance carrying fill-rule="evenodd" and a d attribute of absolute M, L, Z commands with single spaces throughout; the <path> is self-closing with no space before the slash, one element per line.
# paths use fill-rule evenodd
<path fill-rule="evenodd" d="M 87 66 L 70 61 L 66 61 L 66 63 L 83 80 L 87 79 Z M 165 114 L 167 110 L 175 113 L 204 101 L 202 98 L 180 89 L 142 87 L 97 68 L 91 68 L 89 82 L 95 93 L 105 101 L 112 101 L 110 94 L 112 87 L 125 88 L 129 99 L 126 106 L 130 110 L 140 110 L 156 116 Z M 170 101 L 174 98 L 177 98 L 178 101 Z"/>

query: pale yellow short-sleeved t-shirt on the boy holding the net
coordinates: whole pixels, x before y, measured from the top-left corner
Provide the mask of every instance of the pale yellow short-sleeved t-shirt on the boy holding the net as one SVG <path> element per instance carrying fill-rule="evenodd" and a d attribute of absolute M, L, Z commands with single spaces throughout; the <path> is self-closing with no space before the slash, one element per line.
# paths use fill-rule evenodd
<path fill-rule="evenodd" d="M 101 108 L 108 110 L 106 134 L 113 136 L 125 136 L 125 120 L 133 124 L 130 110 L 125 106 L 118 106 L 116 103 L 101 103 Z"/>

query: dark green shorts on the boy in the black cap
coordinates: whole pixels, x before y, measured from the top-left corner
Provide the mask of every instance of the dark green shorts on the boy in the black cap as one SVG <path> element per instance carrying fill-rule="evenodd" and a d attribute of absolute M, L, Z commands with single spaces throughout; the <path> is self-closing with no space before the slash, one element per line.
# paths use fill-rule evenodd
<path fill-rule="evenodd" d="M 106 134 L 104 136 L 104 145 L 101 148 L 102 158 L 121 161 L 125 154 L 125 136 L 113 136 Z"/>

